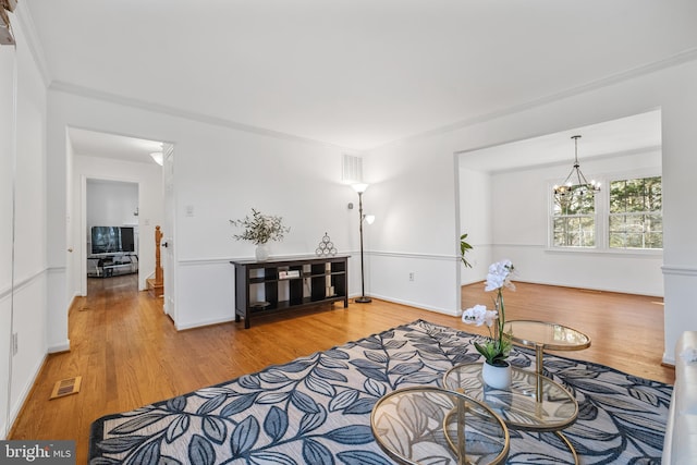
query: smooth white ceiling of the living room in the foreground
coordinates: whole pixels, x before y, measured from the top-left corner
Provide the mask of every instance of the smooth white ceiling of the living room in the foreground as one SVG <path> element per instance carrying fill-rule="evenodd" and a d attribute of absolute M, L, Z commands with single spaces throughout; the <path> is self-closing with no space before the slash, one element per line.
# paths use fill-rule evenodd
<path fill-rule="evenodd" d="M 694 0 L 23 7 L 51 86 L 354 150 L 697 58 Z"/>

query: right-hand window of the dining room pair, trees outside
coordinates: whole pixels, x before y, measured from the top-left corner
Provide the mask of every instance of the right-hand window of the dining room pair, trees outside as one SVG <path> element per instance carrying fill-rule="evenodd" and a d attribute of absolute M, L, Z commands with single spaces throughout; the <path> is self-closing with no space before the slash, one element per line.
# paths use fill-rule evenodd
<path fill-rule="evenodd" d="M 610 183 L 610 248 L 663 248 L 661 176 Z"/>

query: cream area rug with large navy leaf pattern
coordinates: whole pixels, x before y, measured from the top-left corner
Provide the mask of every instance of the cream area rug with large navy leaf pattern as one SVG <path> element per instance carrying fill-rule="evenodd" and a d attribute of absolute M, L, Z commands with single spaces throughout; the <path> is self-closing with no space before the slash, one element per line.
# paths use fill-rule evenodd
<path fill-rule="evenodd" d="M 186 395 L 109 415 L 91 426 L 89 463 L 394 463 L 376 443 L 370 412 L 386 393 L 442 386 L 454 365 L 481 362 L 481 336 L 418 320 Z M 514 366 L 534 369 L 516 348 Z M 546 375 L 578 400 L 564 430 L 582 464 L 660 464 L 672 387 L 546 355 Z M 573 463 L 551 432 L 511 430 L 509 464 Z"/>

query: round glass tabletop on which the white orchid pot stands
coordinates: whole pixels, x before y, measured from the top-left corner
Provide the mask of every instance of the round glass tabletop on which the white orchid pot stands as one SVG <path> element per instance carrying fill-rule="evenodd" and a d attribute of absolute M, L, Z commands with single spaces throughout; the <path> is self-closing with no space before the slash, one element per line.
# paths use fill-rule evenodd
<path fill-rule="evenodd" d="M 481 365 L 451 368 L 443 377 L 443 387 L 487 404 L 512 429 L 559 431 L 576 420 L 578 403 L 558 382 L 535 371 L 512 367 L 511 388 L 498 390 L 481 379 Z"/>

